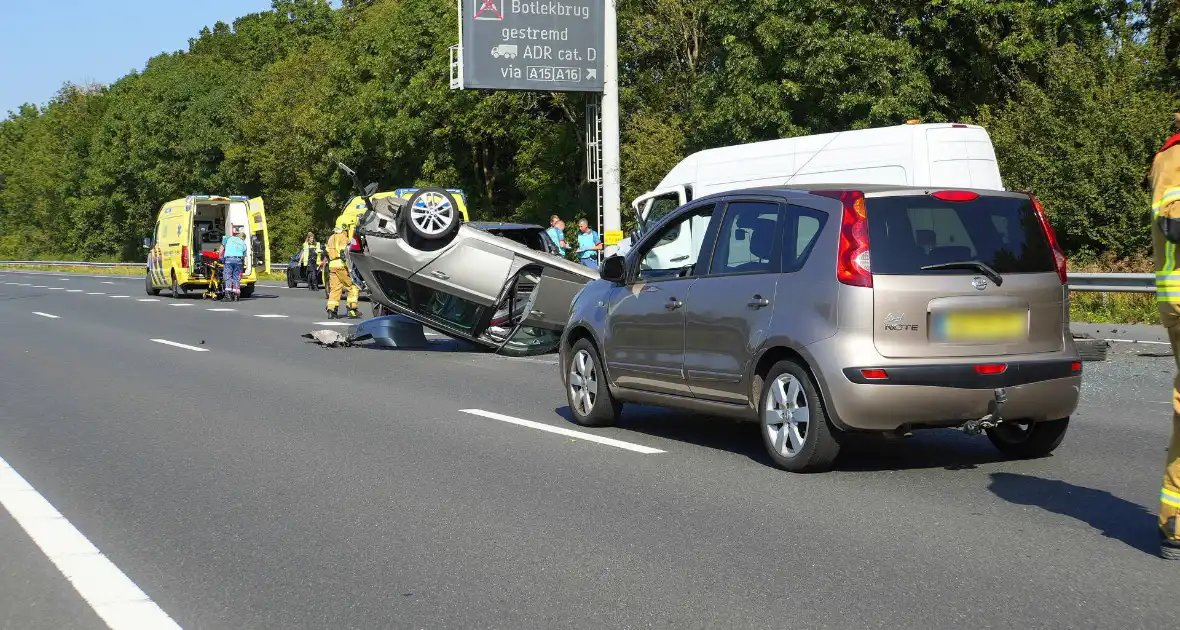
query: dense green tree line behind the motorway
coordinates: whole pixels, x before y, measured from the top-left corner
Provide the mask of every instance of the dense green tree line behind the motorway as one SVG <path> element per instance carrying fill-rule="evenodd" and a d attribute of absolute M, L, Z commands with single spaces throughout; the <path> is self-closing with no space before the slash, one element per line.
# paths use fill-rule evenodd
<path fill-rule="evenodd" d="M 591 216 L 585 96 L 452 91 L 454 0 L 274 0 L 107 86 L 0 122 L 0 258 L 143 260 L 156 211 L 267 199 L 275 260 L 352 195 L 467 192 L 473 218 Z M 991 133 L 1071 256 L 1149 250 L 1180 110 L 1176 0 L 617 0 L 623 199 L 710 146 L 904 123 Z M 625 216 L 625 215 L 624 215 Z"/>

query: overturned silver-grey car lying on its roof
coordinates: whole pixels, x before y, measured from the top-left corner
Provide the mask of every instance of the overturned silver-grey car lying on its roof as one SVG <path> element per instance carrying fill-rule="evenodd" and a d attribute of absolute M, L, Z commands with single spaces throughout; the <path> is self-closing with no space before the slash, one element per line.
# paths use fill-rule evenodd
<path fill-rule="evenodd" d="M 556 350 L 573 296 L 598 273 L 558 256 L 539 225 L 464 223 L 450 197 L 431 188 L 367 198 L 350 258 L 374 315 L 512 356 Z"/>

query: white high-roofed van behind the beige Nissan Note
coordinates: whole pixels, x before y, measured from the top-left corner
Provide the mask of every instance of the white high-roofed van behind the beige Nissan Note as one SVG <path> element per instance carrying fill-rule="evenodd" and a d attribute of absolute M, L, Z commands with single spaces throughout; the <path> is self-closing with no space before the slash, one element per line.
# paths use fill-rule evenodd
<path fill-rule="evenodd" d="M 684 203 L 741 188 L 804 184 L 897 184 L 1004 190 L 988 131 L 964 124 L 906 124 L 800 136 L 693 153 L 651 192 L 631 202 L 638 234 Z M 689 230 L 669 235 L 682 248 L 660 248 L 686 260 Z M 686 234 L 688 232 L 688 234 Z M 700 239 L 700 236 L 696 241 Z M 631 238 L 618 243 L 630 249 Z M 683 251 L 681 251 L 683 250 Z M 671 265 L 671 261 L 660 261 Z M 664 267 L 664 268 L 669 268 Z"/>

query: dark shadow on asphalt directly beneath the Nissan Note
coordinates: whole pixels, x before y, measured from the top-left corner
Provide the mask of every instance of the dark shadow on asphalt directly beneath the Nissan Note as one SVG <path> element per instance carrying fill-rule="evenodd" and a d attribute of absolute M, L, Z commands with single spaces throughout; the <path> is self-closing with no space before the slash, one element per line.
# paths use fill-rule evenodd
<path fill-rule="evenodd" d="M 557 415 L 573 422 L 568 406 L 555 409 Z M 675 440 L 717 451 L 745 455 L 758 464 L 774 466 L 766 454 L 759 425 L 740 422 L 689 412 L 627 405 L 616 425 L 624 431 Z M 1005 461 L 991 442 L 983 437 L 965 435 L 953 429 L 932 429 L 905 440 L 886 439 L 871 434 L 851 434 L 835 461 L 834 471 L 877 472 L 944 468 L 969 471 L 985 464 Z"/>

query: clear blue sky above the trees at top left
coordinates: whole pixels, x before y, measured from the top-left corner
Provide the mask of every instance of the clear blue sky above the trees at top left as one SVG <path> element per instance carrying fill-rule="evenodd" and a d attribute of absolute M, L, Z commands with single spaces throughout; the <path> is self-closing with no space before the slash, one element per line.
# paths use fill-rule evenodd
<path fill-rule="evenodd" d="M 67 81 L 113 83 L 148 59 L 189 47 L 203 26 L 270 0 L 12 0 L 0 20 L 0 119 L 44 104 Z"/>

